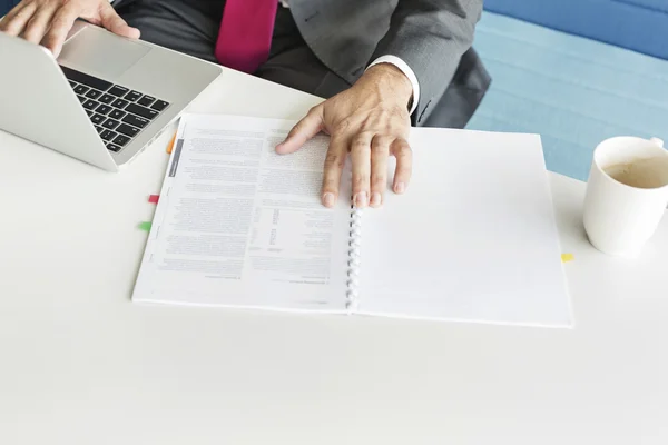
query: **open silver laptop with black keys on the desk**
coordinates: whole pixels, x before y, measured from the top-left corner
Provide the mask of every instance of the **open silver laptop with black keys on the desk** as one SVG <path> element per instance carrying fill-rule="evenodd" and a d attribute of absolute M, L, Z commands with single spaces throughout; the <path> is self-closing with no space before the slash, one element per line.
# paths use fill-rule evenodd
<path fill-rule="evenodd" d="M 0 33 L 0 130 L 118 171 L 222 71 L 84 21 L 58 59 Z"/>

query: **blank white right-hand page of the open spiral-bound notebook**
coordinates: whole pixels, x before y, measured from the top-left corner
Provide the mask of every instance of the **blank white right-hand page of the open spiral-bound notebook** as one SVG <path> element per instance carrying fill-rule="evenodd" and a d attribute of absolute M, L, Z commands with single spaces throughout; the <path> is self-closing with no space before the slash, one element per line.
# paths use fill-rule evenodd
<path fill-rule="evenodd" d="M 421 128 L 410 141 L 406 194 L 363 211 L 358 312 L 570 326 L 540 137 Z"/>

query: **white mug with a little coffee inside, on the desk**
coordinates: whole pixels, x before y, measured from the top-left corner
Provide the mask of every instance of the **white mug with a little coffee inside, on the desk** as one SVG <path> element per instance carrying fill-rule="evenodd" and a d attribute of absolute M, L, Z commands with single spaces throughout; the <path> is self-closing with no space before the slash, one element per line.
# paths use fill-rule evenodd
<path fill-rule="evenodd" d="M 598 250 L 636 257 L 668 206 L 668 151 L 660 139 L 617 137 L 593 152 L 584 229 Z"/>

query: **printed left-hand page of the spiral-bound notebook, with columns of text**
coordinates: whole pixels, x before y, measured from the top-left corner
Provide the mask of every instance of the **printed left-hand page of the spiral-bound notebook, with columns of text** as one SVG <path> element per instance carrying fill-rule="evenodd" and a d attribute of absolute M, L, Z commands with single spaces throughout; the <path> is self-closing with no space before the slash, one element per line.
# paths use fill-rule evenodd
<path fill-rule="evenodd" d="M 345 310 L 350 199 L 321 204 L 326 137 L 276 155 L 292 125 L 181 118 L 135 301 Z"/>

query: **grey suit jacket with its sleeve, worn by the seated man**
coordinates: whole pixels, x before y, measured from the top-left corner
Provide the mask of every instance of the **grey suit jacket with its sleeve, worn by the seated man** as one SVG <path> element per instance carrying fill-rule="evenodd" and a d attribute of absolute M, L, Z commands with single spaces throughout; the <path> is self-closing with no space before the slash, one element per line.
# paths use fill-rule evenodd
<path fill-rule="evenodd" d="M 420 82 L 414 125 L 462 126 L 489 87 L 471 49 L 482 0 L 289 0 L 289 8 L 314 53 L 351 83 L 377 57 L 404 60 Z"/>

